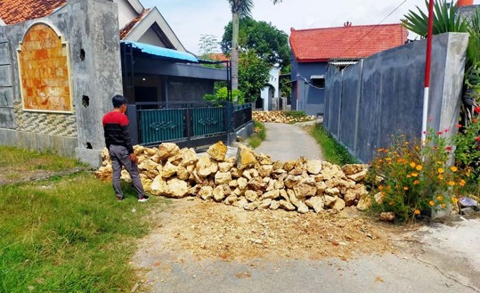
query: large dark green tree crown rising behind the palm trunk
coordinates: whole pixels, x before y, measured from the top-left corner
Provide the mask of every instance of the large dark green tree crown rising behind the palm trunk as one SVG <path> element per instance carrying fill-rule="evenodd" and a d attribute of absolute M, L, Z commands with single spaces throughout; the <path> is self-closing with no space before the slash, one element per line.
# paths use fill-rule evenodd
<path fill-rule="evenodd" d="M 286 67 L 290 64 L 290 47 L 288 35 L 278 30 L 272 23 L 255 21 L 250 17 L 240 20 L 239 47 L 241 49 L 255 49 L 260 58 L 267 60 L 269 65 Z M 232 50 L 232 22 L 225 27 L 221 40 L 221 50 L 229 54 Z"/>

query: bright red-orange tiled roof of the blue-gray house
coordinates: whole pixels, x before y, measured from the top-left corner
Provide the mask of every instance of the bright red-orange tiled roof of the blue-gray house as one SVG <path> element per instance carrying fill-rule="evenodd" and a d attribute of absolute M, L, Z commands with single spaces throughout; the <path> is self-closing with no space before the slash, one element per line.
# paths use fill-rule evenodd
<path fill-rule="evenodd" d="M 298 62 L 320 62 L 372 56 L 405 44 L 407 36 L 400 24 L 292 29 L 290 45 Z"/>

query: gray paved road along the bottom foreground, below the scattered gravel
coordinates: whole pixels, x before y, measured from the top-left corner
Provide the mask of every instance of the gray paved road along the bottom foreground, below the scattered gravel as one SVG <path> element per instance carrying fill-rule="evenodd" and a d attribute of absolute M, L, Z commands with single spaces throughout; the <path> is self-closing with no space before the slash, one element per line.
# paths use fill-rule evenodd
<path fill-rule="evenodd" d="M 153 277 L 152 292 L 476 292 L 433 266 L 396 255 L 348 262 L 185 259 L 184 263 L 169 263 L 167 270 L 154 268 L 149 276 Z"/>

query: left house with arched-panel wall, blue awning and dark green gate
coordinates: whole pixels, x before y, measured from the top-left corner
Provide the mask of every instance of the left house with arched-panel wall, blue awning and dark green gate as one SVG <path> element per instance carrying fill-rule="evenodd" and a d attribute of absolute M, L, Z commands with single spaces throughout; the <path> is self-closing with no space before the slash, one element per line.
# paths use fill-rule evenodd
<path fill-rule="evenodd" d="M 226 108 L 217 107 L 216 119 L 170 110 L 201 108 L 215 82 L 229 80 L 228 67 L 202 62 L 139 0 L 0 0 L 0 145 L 98 166 L 101 119 L 115 95 L 127 97 L 138 122 L 130 124 L 135 144 L 226 141 Z M 243 126 L 248 117 L 237 120 Z"/>

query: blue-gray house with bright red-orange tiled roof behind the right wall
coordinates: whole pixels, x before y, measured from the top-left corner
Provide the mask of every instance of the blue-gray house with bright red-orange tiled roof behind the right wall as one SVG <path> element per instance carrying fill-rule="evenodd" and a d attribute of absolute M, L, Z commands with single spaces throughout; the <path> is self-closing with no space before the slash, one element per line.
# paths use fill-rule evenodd
<path fill-rule="evenodd" d="M 341 69 L 407 42 L 400 24 L 351 25 L 309 30 L 291 29 L 291 108 L 322 114 L 328 66 Z"/>

